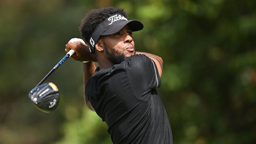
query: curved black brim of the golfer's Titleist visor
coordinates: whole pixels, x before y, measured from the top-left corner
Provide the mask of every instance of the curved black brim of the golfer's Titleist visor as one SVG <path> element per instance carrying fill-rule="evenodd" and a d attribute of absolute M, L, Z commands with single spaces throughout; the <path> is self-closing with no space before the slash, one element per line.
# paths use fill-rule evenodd
<path fill-rule="evenodd" d="M 143 24 L 139 20 L 127 20 L 116 23 L 115 25 L 108 28 L 101 36 L 112 35 L 124 28 L 125 25 L 129 25 L 132 31 L 139 31 L 144 28 Z"/>

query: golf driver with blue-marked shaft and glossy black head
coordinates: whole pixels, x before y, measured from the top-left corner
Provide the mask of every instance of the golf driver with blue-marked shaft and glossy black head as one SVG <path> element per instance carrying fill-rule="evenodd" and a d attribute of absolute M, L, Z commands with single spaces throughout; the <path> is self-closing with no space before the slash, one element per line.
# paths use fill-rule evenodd
<path fill-rule="evenodd" d="M 75 51 L 71 49 L 65 55 L 65 57 L 63 57 L 60 62 L 57 63 L 46 76 L 44 76 L 44 78 L 36 85 L 36 87 L 29 92 L 28 97 L 30 101 L 36 106 L 36 108 L 42 110 L 43 112 L 49 113 L 58 106 L 60 100 L 58 87 L 52 82 L 45 84 L 43 84 L 43 82 L 74 53 Z"/>

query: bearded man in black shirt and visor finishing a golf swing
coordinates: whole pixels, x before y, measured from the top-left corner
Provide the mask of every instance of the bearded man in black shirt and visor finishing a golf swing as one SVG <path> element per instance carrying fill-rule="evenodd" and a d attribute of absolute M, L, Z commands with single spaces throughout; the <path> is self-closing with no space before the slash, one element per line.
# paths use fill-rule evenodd
<path fill-rule="evenodd" d="M 170 123 L 156 88 L 163 60 L 136 52 L 132 32 L 143 24 L 127 20 L 124 9 L 93 9 L 81 21 L 81 39 L 71 39 L 65 51 L 84 62 L 84 99 L 108 125 L 116 144 L 172 143 Z M 92 61 L 98 62 L 96 68 Z"/>

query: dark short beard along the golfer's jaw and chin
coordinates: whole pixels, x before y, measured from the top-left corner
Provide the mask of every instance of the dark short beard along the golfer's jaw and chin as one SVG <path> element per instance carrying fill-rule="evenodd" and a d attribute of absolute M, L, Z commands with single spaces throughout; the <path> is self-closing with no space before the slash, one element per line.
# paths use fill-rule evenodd
<path fill-rule="evenodd" d="M 103 44 L 104 44 L 104 50 L 106 52 L 107 57 L 110 60 L 112 60 L 114 62 L 114 64 L 120 64 L 124 60 L 124 58 L 125 58 L 124 53 L 119 52 L 113 48 L 109 48 L 105 42 L 103 42 Z M 136 53 L 136 49 L 134 47 L 134 55 L 135 55 L 135 53 Z"/>

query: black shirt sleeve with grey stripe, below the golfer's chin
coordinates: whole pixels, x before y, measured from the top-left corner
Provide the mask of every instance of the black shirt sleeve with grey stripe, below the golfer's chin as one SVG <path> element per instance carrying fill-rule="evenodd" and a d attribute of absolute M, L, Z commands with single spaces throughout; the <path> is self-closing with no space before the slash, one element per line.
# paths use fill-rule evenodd
<path fill-rule="evenodd" d="M 144 95 L 161 85 L 156 64 L 146 55 L 138 54 L 127 58 L 126 73 L 136 95 Z"/>

